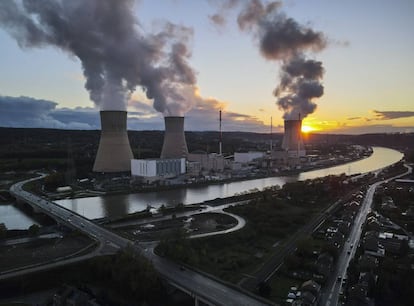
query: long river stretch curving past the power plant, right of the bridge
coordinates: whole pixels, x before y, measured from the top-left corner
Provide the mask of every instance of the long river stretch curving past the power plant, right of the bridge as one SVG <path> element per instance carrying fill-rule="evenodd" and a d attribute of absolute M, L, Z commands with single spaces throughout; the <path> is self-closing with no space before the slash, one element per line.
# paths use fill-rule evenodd
<path fill-rule="evenodd" d="M 89 219 L 102 217 L 118 217 L 129 213 L 144 210 L 147 205 L 159 207 L 171 206 L 178 203 L 192 204 L 205 200 L 223 198 L 245 192 L 279 185 L 298 180 L 314 179 L 327 175 L 347 175 L 375 171 L 401 160 L 403 154 L 392 149 L 373 147 L 373 154 L 363 160 L 347 163 L 340 166 L 302 172 L 294 176 L 269 177 L 248 181 L 209 185 L 201 187 L 181 188 L 148 193 L 125 195 L 110 195 L 82 199 L 68 199 L 56 201 L 59 205 L 69 208 Z"/>

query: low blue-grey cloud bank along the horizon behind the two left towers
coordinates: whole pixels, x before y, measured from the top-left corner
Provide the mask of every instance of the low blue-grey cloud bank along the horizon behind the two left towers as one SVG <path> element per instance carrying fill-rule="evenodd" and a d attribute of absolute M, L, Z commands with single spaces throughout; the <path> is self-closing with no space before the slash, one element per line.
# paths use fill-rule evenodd
<path fill-rule="evenodd" d="M 193 93 L 194 94 L 194 93 Z M 128 103 L 128 129 L 163 130 L 161 113 L 140 100 Z M 203 98 L 195 93 L 195 107 L 185 119 L 187 131 L 218 130 L 219 110 L 223 131 L 267 132 L 268 127 L 258 118 L 226 111 L 227 103 Z M 0 126 L 21 128 L 100 129 L 99 110 L 90 107 L 57 108 L 58 103 L 30 97 L 0 96 Z"/>

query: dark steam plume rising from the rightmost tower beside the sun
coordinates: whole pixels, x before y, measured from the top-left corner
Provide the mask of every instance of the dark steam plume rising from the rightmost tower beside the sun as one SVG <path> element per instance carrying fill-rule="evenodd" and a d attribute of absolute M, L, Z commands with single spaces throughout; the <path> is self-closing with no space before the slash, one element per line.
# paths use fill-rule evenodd
<path fill-rule="evenodd" d="M 326 47 L 322 33 L 298 24 L 279 11 L 280 2 L 251 0 L 238 17 L 240 29 L 254 33 L 268 60 L 283 62 L 281 81 L 274 90 L 285 119 L 302 118 L 316 109 L 312 101 L 323 95 L 321 62 L 306 60 L 304 52 Z"/>

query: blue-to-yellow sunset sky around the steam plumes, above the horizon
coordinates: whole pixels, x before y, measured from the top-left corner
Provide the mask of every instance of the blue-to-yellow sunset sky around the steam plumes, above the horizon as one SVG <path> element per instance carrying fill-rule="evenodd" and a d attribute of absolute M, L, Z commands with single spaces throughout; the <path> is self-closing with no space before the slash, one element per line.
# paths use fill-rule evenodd
<path fill-rule="evenodd" d="M 144 35 L 166 23 L 180 27 L 169 35 L 185 41 L 185 50 L 177 54 L 193 77 L 186 81 L 191 95 L 184 95 L 189 101 L 180 113 L 186 130 L 217 130 L 221 109 L 224 131 L 269 132 L 272 121 L 273 131 L 282 132 L 285 112 L 274 90 L 281 84 L 285 58 L 266 58 L 260 34 L 238 26 L 247 0 L 232 8 L 223 3 L 141 0 L 132 13 Z M 323 95 L 312 98 L 316 109 L 304 118 L 305 129 L 414 132 L 414 1 L 286 0 L 277 11 L 322 33 L 326 41 L 318 50 L 301 50 L 324 69 L 318 79 Z M 225 17 L 220 24 L 211 18 L 218 13 Z M 102 106 L 85 89 L 76 55 L 51 44 L 21 48 L 1 22 L 0 45 L 0 126 L 99 129 Z M 163 129 L 167 112 L 154 108 L 141 86 L 125 99 L 129 129 Z"/>

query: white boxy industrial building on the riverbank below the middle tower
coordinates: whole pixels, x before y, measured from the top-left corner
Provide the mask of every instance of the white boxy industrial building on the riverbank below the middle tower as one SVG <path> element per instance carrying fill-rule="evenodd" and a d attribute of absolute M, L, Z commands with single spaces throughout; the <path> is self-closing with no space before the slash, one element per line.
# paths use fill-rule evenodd
<path fill-rule="evenodd" d="M 131 175 L 146 183 L 173 178 L 185 171 L 185 158 L 131 160 Z"/>

